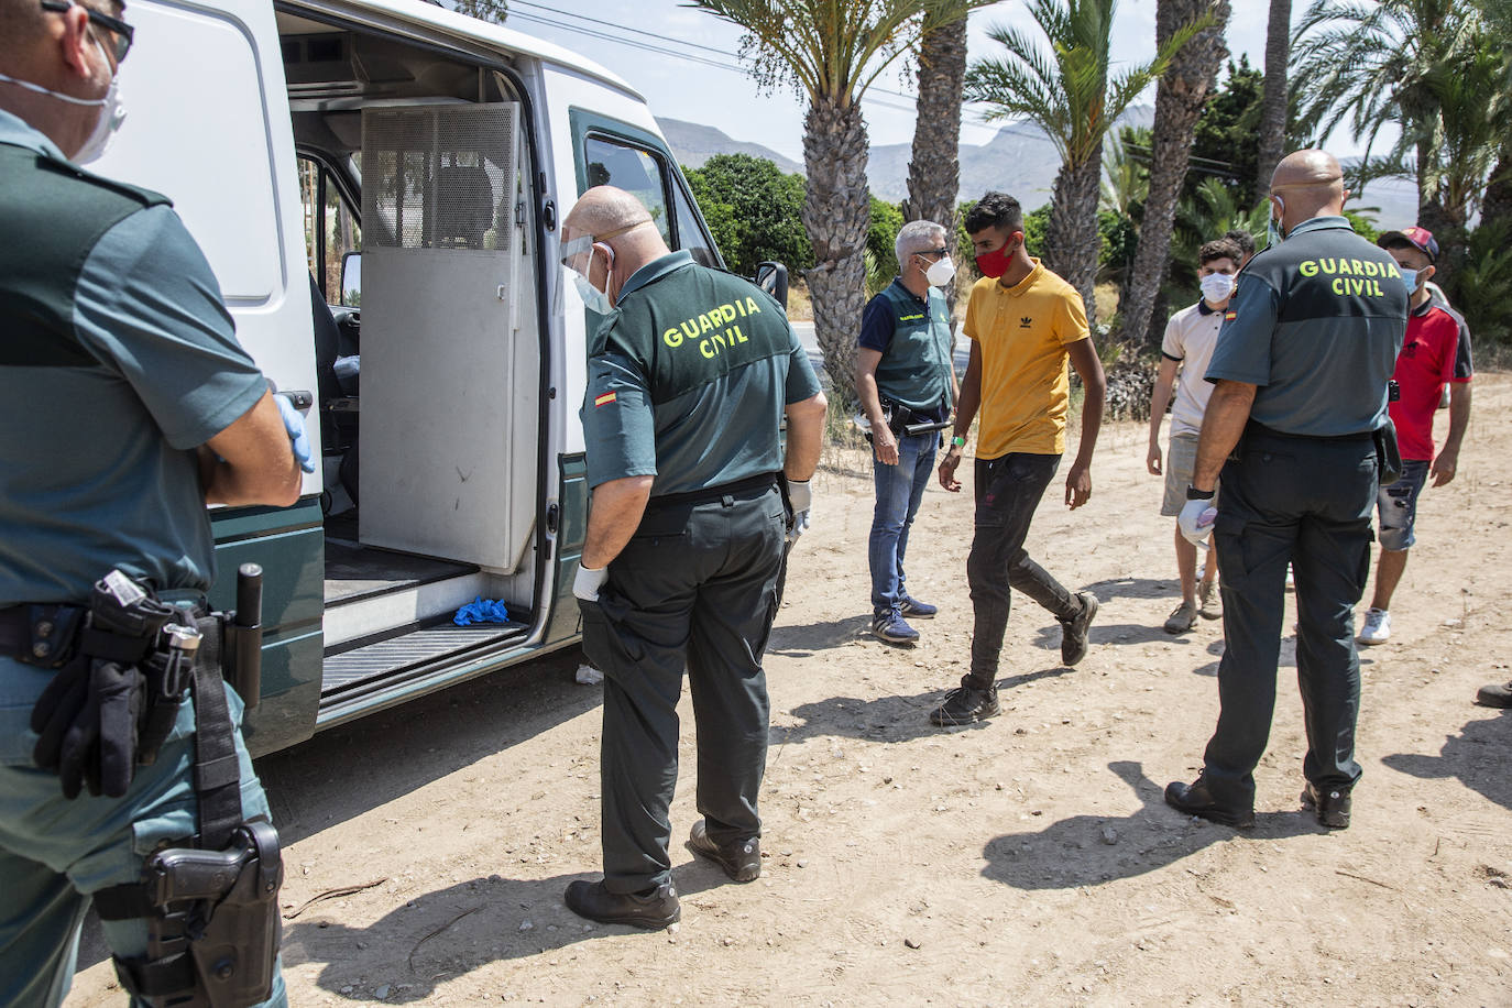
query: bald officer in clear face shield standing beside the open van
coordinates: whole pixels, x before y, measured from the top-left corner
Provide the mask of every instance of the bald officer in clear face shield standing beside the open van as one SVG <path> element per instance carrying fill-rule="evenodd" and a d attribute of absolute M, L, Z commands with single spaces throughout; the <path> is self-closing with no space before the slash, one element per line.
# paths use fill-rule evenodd
<path fill-rule="evenodd" d="M 591 920 L 664 928 L 682 913 L 667 843 L 683 668 L 703 813 L 688 845 L 735 881 L 761 875 L 761 660 L 783 541 L 807 520 L 824 396 L 782 307 L 668 251 L 635 196 L 590 189 L 562 242 L 567 278 L 605 314 L 588 351 L 593 497 L 573 585 L 582 650 L 605 674 L 603 881 L 572 883 L 565 899 Z"/>

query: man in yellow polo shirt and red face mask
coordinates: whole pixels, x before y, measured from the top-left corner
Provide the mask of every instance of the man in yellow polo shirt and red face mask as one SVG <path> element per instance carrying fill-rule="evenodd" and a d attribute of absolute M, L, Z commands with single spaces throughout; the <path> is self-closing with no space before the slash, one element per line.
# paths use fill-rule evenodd
<path fill-rule="evenodd" d="M 1075 665 L 1087 653 L 1087 627 L 1098 614 L 1092 592 L 1066 591 L 1024 550 L 1034 508 L 1066 450 L 1067 361 L 1077 369 L 1086 397 L 1081 444 L 1066 475 L 1066 505 L 1080 508 L 1092 497 L 1092 449 L 1102 426 L 1107 379 L 1092 345 L 1087 311 L 1070 284 L 1024 249 L 1024 212 L 1013 196 L 1001 192 L 983 196 L 966 215 L 966 233 L 983 278 L 972 287 L 966 307 L 971 363 L 960 384 L 956 437 L 940 462 L 939 481 L 945 490 L 960 491 L 956 468 L 980 408 L 975 536 L 966 561 L 975 626 L 971 671 L 930 713 L 937 725 L 971 724 L 1001 710 L 998 656 L 1009 626 L 1010 588 L 1060 621 L 1060 656 L 1066 665 Z"/>

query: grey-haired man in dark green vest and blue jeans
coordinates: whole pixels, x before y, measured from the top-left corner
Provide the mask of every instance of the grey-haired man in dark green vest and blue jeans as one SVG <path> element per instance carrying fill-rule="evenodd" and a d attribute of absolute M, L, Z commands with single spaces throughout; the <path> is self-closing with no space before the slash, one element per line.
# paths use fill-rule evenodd
<path fill-rule="evenodd" d="M 866 304 L 856 348 L 856 394 L 871 425 L 877 508 L 866 562 L 871 567 L 871 632 L 889 644 L 912 644 L 919 632 L 904 617 L 930 618 L 936 608 L 909 594 L 903 555 L 924 488 L 934 472 L 940 432 L 907 428 L 950 420 L 956 402 L 950 307 L 936 290 L 956 278 L 945 228 L 910 221 L 894 245 L 898 277 Z"/>

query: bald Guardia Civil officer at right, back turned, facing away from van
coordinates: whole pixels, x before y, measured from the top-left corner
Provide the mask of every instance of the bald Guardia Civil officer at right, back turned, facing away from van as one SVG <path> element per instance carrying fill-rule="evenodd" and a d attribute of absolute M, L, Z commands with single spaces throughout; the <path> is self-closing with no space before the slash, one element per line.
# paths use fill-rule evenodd
<path fill-rule="evenodd" d="M 1346 196 L 1338 162 L 1325 151 L 1296 151 L 1276 166 L 1270 243 L 1240 274 L 1225 313 L 1179 517 L 1193 541 L 1211 526 L 1228 648 L 1202 774 L 1172 783 L 1166 801 L 1240 828 L 1255 824 L 1253 769 L 1276 703 L 1288 562 L 1308 733 L 1303 807 L 1325 827 L 1347 827 L 1361 772 L 1353 609 L 1370 570 L 1377 455 L 1394 455 L 1388 379 L 1408 292 L 1391 255 L 1350 228 Z M 1207 502 L 1220 470 L 1214 523 Z"/>

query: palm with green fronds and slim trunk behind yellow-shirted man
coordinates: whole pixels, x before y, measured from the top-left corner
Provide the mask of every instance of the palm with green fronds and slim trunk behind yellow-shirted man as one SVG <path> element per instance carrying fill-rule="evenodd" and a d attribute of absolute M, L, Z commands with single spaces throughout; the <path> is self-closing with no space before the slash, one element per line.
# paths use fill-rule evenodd
<path fill-rule="evenodd" d="M 1155 59 L 1110 79 L 1113 8 L 1114 0 L 1030 0 L 1030 15 L 1051 54 L 1019 29 L 995 26 L 989 35 L 1009 50 L 1009 59 L 977 60 L 966 71 L 966 97 L 992 106 L 987 119 L 1025 118 L 1060 151 L 1045 264 L 1081 293 L 1089 322 L 1096 320 L 1092 286 L 1102 138 L 1193 35 L 1178 32 Z"/>

